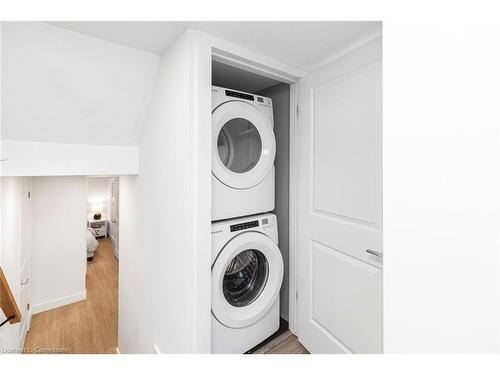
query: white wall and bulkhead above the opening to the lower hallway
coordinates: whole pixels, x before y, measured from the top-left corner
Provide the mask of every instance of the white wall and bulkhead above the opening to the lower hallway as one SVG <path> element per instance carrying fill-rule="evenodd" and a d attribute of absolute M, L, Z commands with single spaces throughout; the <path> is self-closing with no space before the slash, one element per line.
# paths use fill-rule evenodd
<path fill-rule="evenodd" d="M 137 173 L 158 55 L 40 22 L 4 22 L 2 48 L 6 175 Z"/>

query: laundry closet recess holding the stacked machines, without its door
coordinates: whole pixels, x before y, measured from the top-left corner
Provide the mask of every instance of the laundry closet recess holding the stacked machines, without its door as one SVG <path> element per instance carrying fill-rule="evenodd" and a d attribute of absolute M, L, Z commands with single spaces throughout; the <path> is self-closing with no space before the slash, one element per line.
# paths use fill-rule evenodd
<path fill-rule="evenodd" d="M 212 351 L 242 353 L 288 328 L 290 85 L 217 59 L 212 84 L 212 278 L 224 272 L 212 285 Z M 253 237 L 245 244 L 241 233 Z M 277 248 L 266 247 L 268 238 Z M 240 248 L 224 256 L 238 240 Z M 231 310 L 236 317 L 245 309 L 256 318 L 231 319 Z"/>

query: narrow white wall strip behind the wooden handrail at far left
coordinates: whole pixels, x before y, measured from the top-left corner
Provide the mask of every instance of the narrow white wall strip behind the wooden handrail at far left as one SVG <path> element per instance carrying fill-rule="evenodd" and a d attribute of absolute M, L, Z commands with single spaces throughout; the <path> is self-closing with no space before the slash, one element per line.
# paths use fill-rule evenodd
<path fill-rule="evenodd" d="M 1 186 L 1 258 L 0 265 L 9 282 L 12 294 L 19 306 L 21 292 L 21 204 L 22 204 L 22 179 L 0 179 Z M 5 315 L 0 310 L 0 321 Z M 0 329 L 0 349 L 19 349 L 19 336 L 21 324 L 7 323 Z"/>

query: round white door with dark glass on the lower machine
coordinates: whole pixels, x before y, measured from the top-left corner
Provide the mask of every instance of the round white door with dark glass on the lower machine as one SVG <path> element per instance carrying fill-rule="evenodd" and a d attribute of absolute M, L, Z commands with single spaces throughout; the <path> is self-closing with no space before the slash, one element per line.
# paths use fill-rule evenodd
<path fill-rule="evenodd" d="M 283 281 L 283 257 L 259 232 L 233 238 L 212 266 L 212 314 L 226 327 L 247 327 L 266 314 Z"/>

